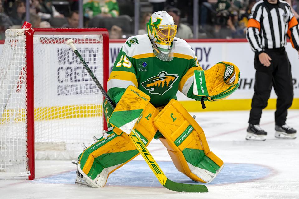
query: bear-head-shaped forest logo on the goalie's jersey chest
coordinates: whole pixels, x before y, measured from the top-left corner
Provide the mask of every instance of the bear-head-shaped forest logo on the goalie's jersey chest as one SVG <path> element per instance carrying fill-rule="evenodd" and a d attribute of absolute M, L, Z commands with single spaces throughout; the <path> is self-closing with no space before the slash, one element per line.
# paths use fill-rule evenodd
<path fill-rule="evenodd" d="M 173 83 L 178 79 L 177 74 L 167 74 L 167 72 L 162 71 L 157 76 L 153 76 L 147 81 L 142 82 L 143 88 L 149 90 L 151 94 L 163 95 L 169 89 L 171 89 Z"/>

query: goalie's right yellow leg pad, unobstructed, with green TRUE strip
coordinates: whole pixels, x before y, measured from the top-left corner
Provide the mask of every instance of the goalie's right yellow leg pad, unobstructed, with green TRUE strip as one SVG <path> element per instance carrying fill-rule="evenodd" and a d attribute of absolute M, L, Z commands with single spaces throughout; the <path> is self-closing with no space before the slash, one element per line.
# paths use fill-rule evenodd
<path fill-rule="evenodd" d="M 202 128 L 175 99 L 154 118 L 165 138 L 159 138 L 176 168 L 192 180 L 210 183 L 224 164 L 210 151 Z"/>

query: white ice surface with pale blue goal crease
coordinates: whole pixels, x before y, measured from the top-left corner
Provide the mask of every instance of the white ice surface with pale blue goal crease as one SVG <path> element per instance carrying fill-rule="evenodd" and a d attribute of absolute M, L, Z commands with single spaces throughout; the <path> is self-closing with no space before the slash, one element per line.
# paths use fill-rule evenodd
<path fill-rule="evenodd" d="M 0 198 L 299 199 L 299 139 L 274 137 L 274 111 L 263 111 L 266 141 L 245 140 L 249 111 L 190 114 L 196 115 L 211 151 L 225 162 L 221 173 L 206 185 L 207 193 L 167 190 L 138 156 L 112 173 L 103 188 L 75 185 L 75 165 L 70 161 L 37 160 L 34 181 L 0 180 Z M 289 110 L 287 124 L 299 130 L 299 110 Z M 160 141 L 153 140 L 148 149 L 169 179 L 194 183 L 175 169 Z"/>

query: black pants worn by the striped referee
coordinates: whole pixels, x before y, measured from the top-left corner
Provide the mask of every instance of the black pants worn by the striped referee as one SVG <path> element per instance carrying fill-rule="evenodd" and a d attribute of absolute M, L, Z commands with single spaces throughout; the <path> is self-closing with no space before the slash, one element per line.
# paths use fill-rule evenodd
<path fill-rule="evenodd" d="M 258 55 L 254 57 L 255 85 L 248 122 L 259 124 L 273 86 L 277 95 L 275 124 L 282 126 L 286 123 L 287 109 L 292 105 L 294 96 L 291 64 L 283 47 L 266 49 L 265 53 L 272 59 L 269 67 L 261 64 Z"/>

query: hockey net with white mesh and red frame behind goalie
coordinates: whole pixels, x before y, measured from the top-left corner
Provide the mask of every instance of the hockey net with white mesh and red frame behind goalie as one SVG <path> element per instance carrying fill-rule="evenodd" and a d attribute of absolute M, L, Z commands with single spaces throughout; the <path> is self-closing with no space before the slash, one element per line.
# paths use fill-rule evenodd
<path fill-rule="evenodd" d="M 107 31 L 19 29 L 5 35 L 0 58 L 0 177 L 33 179 L 34 148 L 36 159 L 76 160 L 82 143 L 89 146 L 102 132 L 103 95 L 65 42 L 74 40 L 106 88 Z"/>

